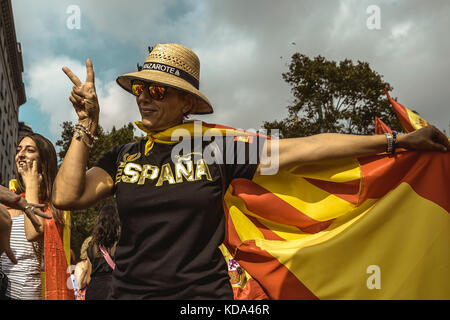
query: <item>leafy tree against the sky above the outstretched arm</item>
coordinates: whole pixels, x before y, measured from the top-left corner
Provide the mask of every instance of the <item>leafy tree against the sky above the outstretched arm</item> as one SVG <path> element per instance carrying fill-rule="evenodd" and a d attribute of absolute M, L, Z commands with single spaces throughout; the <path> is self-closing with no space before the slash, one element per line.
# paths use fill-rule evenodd
<path fill-rule="evenodd" d="M 367 62 L 336 63 L 296 53 L 283 74 L 294 96 L 288 117 L 264 122 L 264 128 L 279 129 L 283 138 L 324 132 L 373 134 L 377 116 L 402 131 L 383 91 L 392 87 L 382 78 Z"/>

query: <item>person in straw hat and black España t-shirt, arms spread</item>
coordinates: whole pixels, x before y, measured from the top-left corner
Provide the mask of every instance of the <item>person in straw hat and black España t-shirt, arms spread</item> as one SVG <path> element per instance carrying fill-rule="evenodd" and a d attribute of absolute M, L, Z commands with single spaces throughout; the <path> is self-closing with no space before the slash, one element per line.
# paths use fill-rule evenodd
<path fill-rule="evenodd" d="M 222 191 L 232 179 L 252 179 L 274 162 L 281 168 L 302 161 L 375 154 L 385 151 L 386 145 L 389 152 L 397 146 L 449 148 L 442 133 L 427 127 L 401 136 L 321 134 L 282 139 L 276 142 L 277 159 L 265 153 L 259 159 L 257 151 L 256 161 L 251 161 L 255 156 L 250 152 L 252 145 L 262 142 L 270 149 L 275 143 L 259 136 L 226 137 L 225 147 L 222 144 L 218 151 L 225 167 L 207 163 L 204 150 L 211 140 L 202 139 L 200 152 L 194 144 L 194 152 L 186 153 L 179 148 L 184 140 L 171 139 L 176 129 L 192 133 L 192 125 L 184 123 L 186 115 L 213 112 L 199 91 L 199 59 L 184 46 L 158 44 L 141 70 L 117 79 L 136 96 L 142 116 L 137 125 L 147 132 L 147 139 L 111 150 L 85 171 L 99 120 L 89 59 L 86 69 L 86 82 L 82 83 L 63 67 L 75 85 L 69 99 L 79 122 L 55 182 L 53 202 L 63 209 L 82 209 L 115 194 L 122 235 L 116 250 L 112 299 L 232 299 L 227 266 L 218 249 L 225 234 Z M 213 141 L 220 145 L 221 140 Z M 229 147 L 237 152 L 229 152 Z M 237 161 L 241 154 L 243 162 Z"/>

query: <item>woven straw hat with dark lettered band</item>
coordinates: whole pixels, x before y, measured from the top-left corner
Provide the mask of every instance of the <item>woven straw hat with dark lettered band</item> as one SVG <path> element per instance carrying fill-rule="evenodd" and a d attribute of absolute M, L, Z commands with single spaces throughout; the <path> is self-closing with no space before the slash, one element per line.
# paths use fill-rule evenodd
<path fill-rule="evenodd" d="M 179 44 L 157 44 L 138 72 L 124 74 L 117 83 L 131 93 L 131 80 L 151 81 L 191 93 L 197 98 L 191 113 L 212 113 L 208 98 L 199 91 L 200 60 L 190 49 Z"/>

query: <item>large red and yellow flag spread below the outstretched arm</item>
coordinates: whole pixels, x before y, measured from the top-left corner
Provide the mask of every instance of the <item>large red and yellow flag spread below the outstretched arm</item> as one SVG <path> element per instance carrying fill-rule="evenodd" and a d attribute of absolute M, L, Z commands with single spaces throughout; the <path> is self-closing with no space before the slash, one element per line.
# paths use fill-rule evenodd
<path fill-rule="evenodd" d="M 236 179 L 225 246 L 270 299 L 450 299 L 450 153 Z"/>

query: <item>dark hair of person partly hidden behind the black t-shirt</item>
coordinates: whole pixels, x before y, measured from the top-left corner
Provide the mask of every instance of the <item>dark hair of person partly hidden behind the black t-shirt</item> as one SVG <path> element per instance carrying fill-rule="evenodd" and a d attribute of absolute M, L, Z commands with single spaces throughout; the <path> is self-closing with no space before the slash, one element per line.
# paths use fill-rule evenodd
<path fill-rule="evenodd" d="M 106 205 L 97 217 L 92 231 L 92 243 L 98 247 L 111 248 L 119 240 L 120 219 L 115 205 Z"/>

